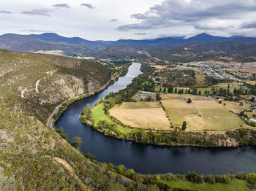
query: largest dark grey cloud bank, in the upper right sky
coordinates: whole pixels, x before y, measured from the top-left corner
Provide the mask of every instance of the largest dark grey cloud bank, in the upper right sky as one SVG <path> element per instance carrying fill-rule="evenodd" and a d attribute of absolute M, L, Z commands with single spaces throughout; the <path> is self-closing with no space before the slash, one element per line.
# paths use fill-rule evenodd
<path fill-rule="evenodd" d="M 204 28 L 199 23 L 212 22 L 211 20 L 240 19 L 247 13 L 256 12 L 256 1 L 232 1 L 232 0 L 165 0 L 162 4 L 155 5 L 148 11 L 131 15 L 138 20 L 137 23 L 119 26 L 119 31 L 172 28 L 174 26 L 194 26 Z M 206 26 L 207 28 L 207 26 Z M 211 29 L 225 28 L 221 22 L 214 22 Z"/>

